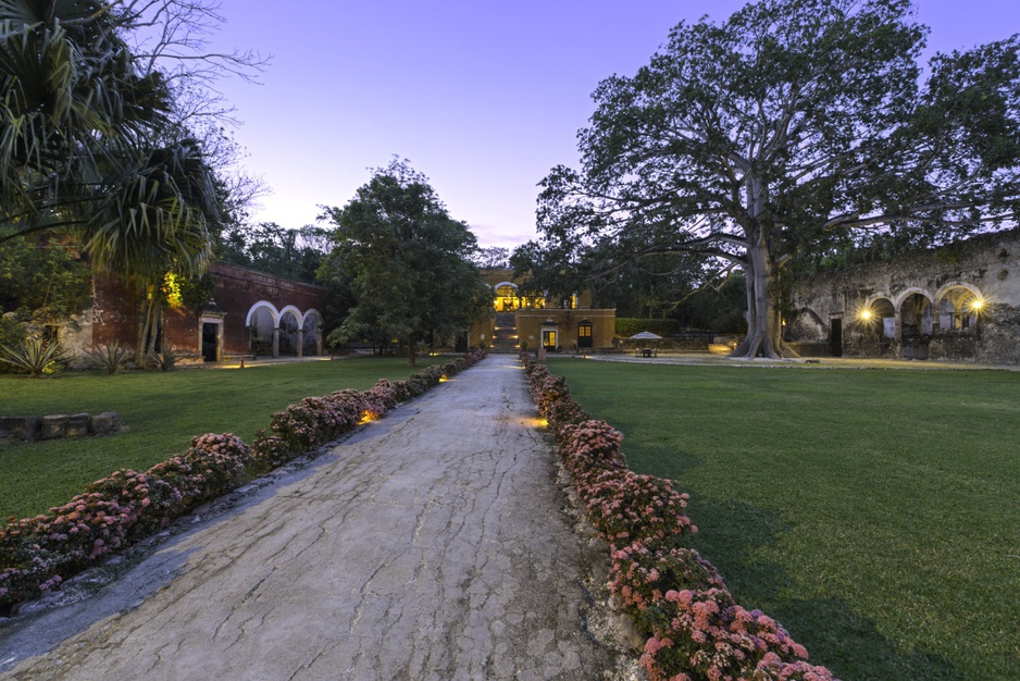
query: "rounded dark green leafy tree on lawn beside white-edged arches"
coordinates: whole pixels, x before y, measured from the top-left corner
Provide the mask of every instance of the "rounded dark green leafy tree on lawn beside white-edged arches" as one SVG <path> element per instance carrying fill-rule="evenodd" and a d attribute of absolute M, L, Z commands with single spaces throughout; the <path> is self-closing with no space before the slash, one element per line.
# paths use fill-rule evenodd
<path fill-rule="evenodd" d="M 398 338 L 413 366 L 418 340 L 460 333 L 492 309 L 471 261 L 474 235 L 407 161 L 376 169 L 343 209 L 323 210 L 336 225 L 323 272 L 343 273 L 356 300 L 341 335 Z"/>

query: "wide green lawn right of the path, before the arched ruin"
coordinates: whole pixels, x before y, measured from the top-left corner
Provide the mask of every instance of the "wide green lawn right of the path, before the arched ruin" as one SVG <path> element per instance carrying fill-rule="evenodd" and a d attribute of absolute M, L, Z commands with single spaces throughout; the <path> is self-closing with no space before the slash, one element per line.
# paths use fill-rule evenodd
<path fill-rule="evenodd" d="M 1020 679 L 1020 373 L 550 361 L 846 680 Z"/>

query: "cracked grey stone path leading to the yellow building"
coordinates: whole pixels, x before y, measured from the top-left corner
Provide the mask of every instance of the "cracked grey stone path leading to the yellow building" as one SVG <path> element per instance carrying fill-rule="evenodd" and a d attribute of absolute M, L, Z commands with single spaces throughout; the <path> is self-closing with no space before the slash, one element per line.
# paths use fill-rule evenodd
<path fill-rule="evenodd" d="M 0 678 L 600 678 L 581 582 L 604 549 L 536 425 L 490 356 L 98 593 L 0 623 Z"/>

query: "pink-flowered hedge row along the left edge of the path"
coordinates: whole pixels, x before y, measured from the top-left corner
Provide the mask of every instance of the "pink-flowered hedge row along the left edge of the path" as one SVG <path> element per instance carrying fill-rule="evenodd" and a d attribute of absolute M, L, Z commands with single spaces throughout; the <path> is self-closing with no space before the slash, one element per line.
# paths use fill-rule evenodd
<path fill-rule="evenodd" d="M 306 397 L 273 414 L 251 447 L 232 434 L 192 437 L 187 451 L 145 473 L 115 471 L 48 513 L 0 528 L 0 614 L 57 587 L 73 573 L 247 480 L 324 445 L 485 357 L 484 350 L 432 366 L 407 381 Z"/>

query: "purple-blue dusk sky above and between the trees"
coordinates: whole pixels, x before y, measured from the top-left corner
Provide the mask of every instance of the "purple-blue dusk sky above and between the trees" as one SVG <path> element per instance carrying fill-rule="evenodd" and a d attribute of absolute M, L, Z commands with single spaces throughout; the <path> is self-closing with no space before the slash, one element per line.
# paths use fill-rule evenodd
<path fill-rule="evenodd" d="M 427 175 L 482 246 L 535 237 L 536 184 L 576 165 L 590 94 L 632 75 L 680 21 L 738 0 L 222 0 L 217 49 L 272 55 L 262 85 L 221 84 L 247 172 L 272 190 L 256 221 L 297 228 L 344 206 L 393 156 Z M 1017 0 L 919 0 L 929 50 L 1020 32 Z"/>

